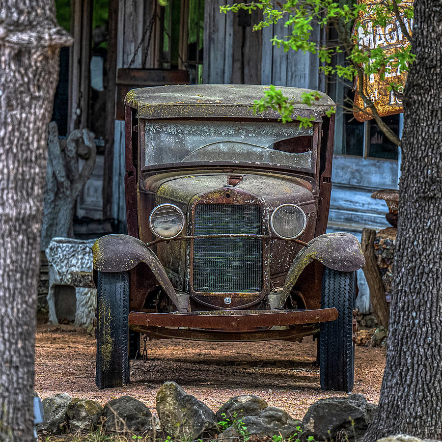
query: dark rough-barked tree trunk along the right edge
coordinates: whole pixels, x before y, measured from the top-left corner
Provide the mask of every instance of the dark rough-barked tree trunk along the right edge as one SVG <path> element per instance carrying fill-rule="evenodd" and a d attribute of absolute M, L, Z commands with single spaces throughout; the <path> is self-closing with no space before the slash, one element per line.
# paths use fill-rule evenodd
<path fill-rule="evenodd" d="M 386 369 L 365 442 L 442 439 L 442 8 L 414 1 Z"/>

